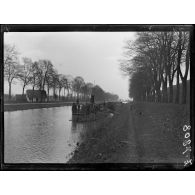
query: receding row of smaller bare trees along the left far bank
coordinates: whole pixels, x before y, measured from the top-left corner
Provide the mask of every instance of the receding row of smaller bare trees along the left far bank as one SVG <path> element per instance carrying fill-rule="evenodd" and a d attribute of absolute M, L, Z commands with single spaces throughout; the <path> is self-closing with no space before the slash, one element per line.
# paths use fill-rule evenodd
<path fill-rule="evenodd" d="M 88 99 L 93 93 L 97 101 L 116 101 L 118 95 L 105 92 L 100 86 L 92 83 L 85 83 L 80 76 L 73 78 L 71 75 L 59 74 L 50 60 L 38 60 L 33 62 L 30 58 L 19 60 L 19 53 L 15 46 L 4 46 L 4 77 L 9 85 L 9 100 L 11 100 L 12 84 L 15 80 L 22 85 L 22 94 L 25 88 L 31 86 L 32 90 L 45 90 L 49 101 L 50 90 L 53 97 L 58 100 L 68 99 Z"/>

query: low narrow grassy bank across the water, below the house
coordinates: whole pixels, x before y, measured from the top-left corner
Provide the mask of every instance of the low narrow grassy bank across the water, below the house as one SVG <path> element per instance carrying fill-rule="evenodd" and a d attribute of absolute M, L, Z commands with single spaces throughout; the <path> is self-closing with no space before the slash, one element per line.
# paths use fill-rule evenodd
<path fill-rule="evenodd" d="M 39 109 L 39 108 L 51 108 L 51 107 L 60 107 L 68 106 L 72 103 L 68 102 L 56 102 L 56 103 L 14 103 L 14 104 L 5 104 L 4 111 L 17 111 L 17 110 L 29 110 L 29 109 Z"/>

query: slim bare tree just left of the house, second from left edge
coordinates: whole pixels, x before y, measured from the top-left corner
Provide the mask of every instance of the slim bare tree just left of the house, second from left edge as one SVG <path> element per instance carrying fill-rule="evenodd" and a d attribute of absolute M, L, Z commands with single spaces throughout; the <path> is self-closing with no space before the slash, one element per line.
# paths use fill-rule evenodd
<path fill-rule="evenodd" d="M 25 87 L 30 84 L 33 74 L 33 62 L 30 58 L 24 57 L 23 64 L 21 65 L 21 72 L 18 73 L 18 79 L 22 82 L 22 95 L 24 95 Z"/>

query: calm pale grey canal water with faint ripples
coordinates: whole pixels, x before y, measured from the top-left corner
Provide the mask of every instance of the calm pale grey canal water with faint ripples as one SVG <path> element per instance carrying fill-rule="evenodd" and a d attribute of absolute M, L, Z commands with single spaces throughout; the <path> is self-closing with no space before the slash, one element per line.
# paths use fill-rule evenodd
<path fill-rule="evenodd" d="M 71 106 L 5 112 L 5 163 L 66 163 L 91 125 L 71 119 Z"/>

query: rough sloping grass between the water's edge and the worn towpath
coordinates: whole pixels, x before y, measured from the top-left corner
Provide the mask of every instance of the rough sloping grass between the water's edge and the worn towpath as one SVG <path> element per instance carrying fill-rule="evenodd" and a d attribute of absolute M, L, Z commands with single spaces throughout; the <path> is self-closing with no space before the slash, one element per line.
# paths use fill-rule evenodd
<path fill-rule="evenodd" d="M 115 114 L 98 120 L 94 128 L 88 129 L 82 142 L 68 163 L 121 162 L 125 157 L 128 131 L 128 106 L 118 106 Z M 123 156 L 123 157 L 122 157 Z"/>

